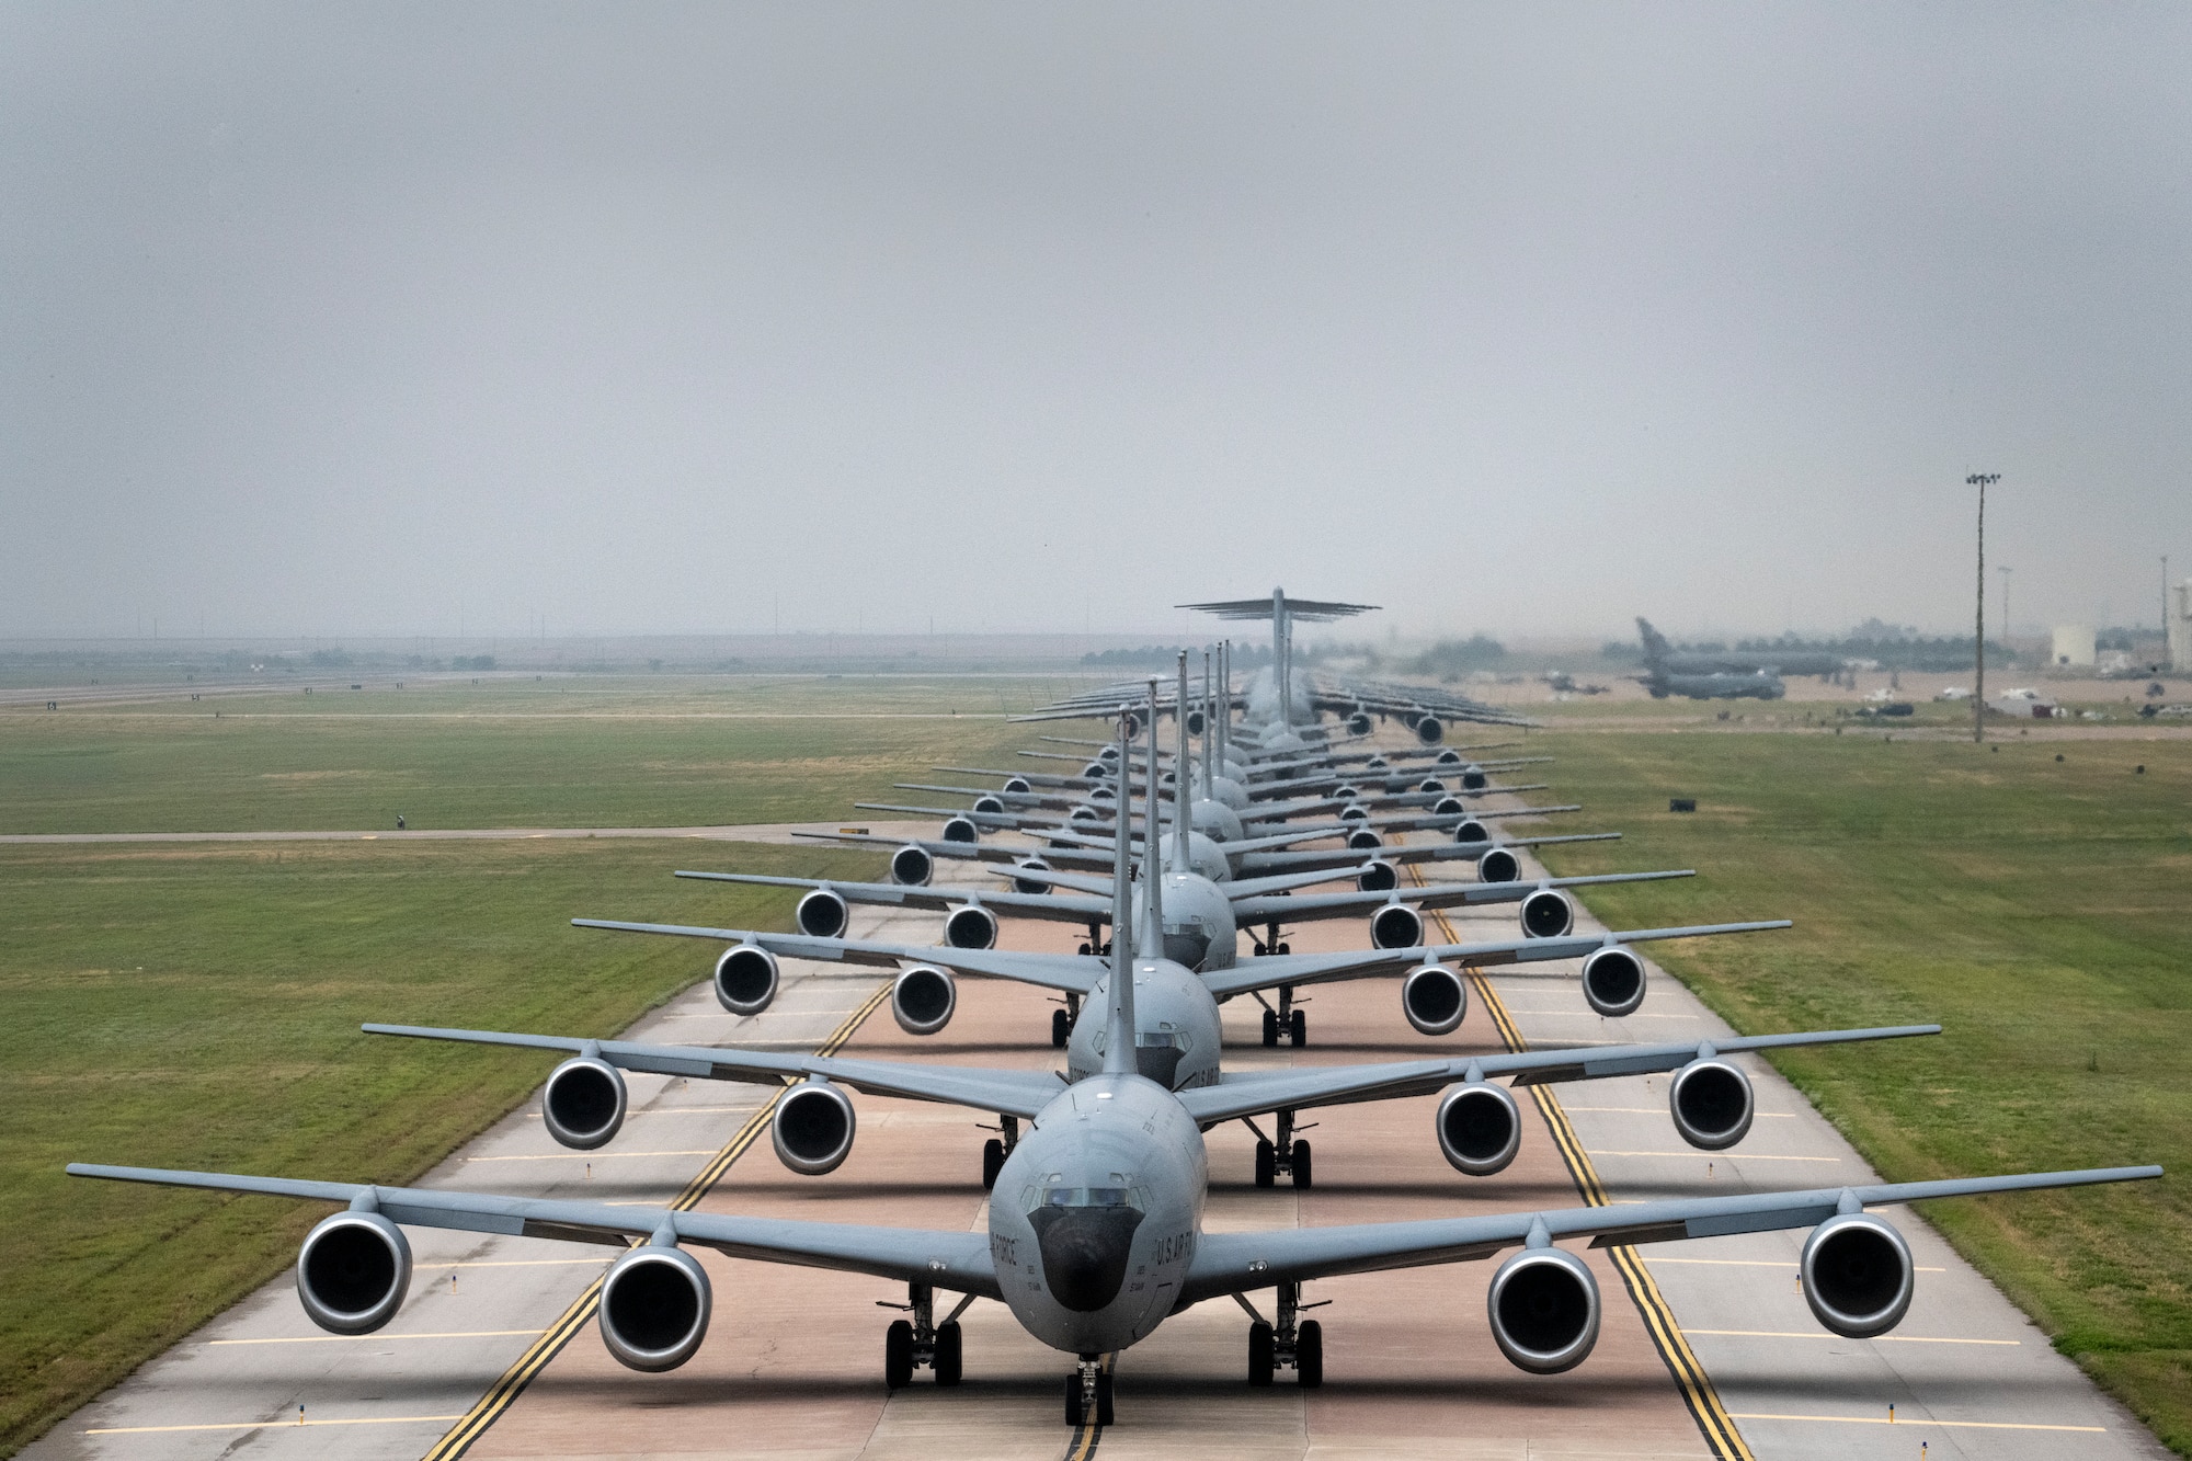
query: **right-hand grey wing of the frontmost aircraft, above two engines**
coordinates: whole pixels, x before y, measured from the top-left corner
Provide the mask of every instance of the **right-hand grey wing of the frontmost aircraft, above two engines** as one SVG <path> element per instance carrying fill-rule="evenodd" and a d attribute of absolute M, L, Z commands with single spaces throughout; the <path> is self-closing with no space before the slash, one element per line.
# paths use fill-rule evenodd
<path fill-rule="evenodd" d="M 1203 1233 L 1188 1264 L 1179 1303 L 1243 1294 L 1274 1283 L 1331 1279 L 1344 1272 L 1466 1264 L 1502 1248 L 1589 1237 L 1594 1248 L 1664 1244 L 1683 1237 L 1773 1233 L 1808 1228 L 1841 1211 L 1894 1207 L 1933 1198 L 1973 1198 L 1990 1191 L 2144 1182 L 2161 1167 L 2098 1167 L 2089 1171 L 2032 1171 L 2023 1176 L 1951 1178 L 1946 1182 L 1874 1182 L 1811 1191 L 1760 1191 L 1736 1198 L 1677 1198 L 1618 1202 L 1545 1213 L 1486 1218 L 1431 1218 L 1425 1222 L 1366 1222 L 1344 1228 L 1265 1228 Z"/>

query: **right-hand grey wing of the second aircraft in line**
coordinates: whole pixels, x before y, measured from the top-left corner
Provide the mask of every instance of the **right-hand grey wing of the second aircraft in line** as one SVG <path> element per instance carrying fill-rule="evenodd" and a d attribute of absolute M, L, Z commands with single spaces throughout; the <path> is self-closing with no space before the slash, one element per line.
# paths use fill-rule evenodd
<path fill-rule="evenodd" d="M 1594 1081 L 1609 1075 L 1679 1071 L 1692 1060 L 1734 1051 L 1782 1051 L 1800 1044 L 1850 1044 L 1857 1040 L 1900 1040 L 1938 1035 L 1940 1024 L 1894 1024 L 1883 1029 L 1828 1029 L 1795 1035 L 1734 1035 L 1688 1044 L 1594 1044 L 1574 1051 L 1521 1051 L 1515 1055 L 1460 1055 L 1451 1060 L 1398 1060 L 1372 1066 L 1285 1066 L 1238 1071 L 1217 1086 L 1179 1092 L 1179 1103 L 1203 1125 L 1256 1117 L 1267 1110 L 1346 1106 L 1350 1101 L 1394 1101 L 1431 1095 L 1453 1081 L 1512 1077 L 1515 1086 Z"/>

